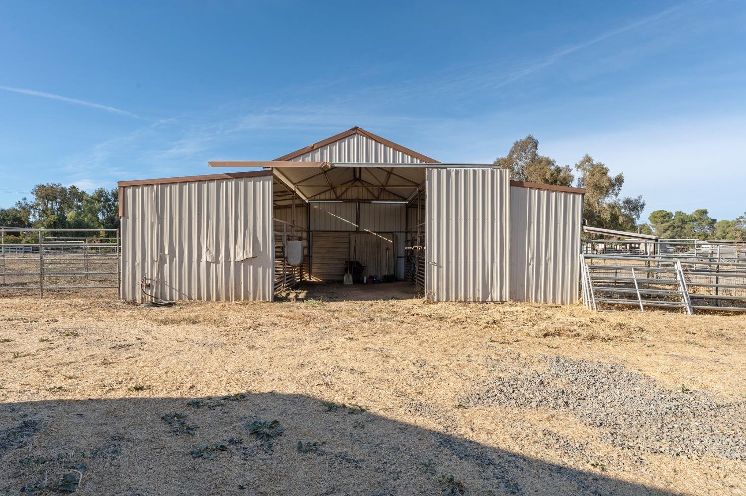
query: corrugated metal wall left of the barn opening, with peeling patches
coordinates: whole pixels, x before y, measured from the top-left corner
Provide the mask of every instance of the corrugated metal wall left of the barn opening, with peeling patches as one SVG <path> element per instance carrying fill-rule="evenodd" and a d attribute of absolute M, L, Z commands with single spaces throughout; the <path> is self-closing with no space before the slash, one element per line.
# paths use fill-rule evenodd
<path fill-rule="evenodd" d="M 124 188 L 122 298 L 272 299 L 272 177 Z M 251 257 L 251 258 L 247 258 Z"/>

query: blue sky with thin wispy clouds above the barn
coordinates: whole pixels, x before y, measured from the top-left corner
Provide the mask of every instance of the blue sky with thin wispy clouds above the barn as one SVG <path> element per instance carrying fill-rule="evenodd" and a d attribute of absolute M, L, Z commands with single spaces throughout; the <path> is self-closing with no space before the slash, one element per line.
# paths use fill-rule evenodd
<path fill-rule="evenodd" d="M 746 211 L 741 0 L 3 1 L 0 47 L 0 206 L 360 126 L 442 162 L 532 133 L 645 218 Z"/>

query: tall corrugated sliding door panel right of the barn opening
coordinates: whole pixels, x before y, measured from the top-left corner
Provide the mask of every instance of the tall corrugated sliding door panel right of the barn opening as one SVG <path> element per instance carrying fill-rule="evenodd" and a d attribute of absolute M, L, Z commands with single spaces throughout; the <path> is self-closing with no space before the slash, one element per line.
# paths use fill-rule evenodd
<path fill-rule="evenodd" d="M 499 168 L 427 169 L 425 295 L 509 298 L 510 177 Z"/>

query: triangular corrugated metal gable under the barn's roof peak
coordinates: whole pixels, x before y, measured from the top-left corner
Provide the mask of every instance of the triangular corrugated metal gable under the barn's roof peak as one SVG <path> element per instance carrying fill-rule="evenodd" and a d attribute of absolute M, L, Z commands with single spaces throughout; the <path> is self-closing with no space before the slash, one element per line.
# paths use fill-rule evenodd
<path fill-rule="evenodd" d="M 420 163 L 419 159 L 407 155 L 385 144 L 375 142 L 368 136 L 353 134 L 336 142 L 304 153 L 294 162 L 363 162 L 363 163 Z"/>

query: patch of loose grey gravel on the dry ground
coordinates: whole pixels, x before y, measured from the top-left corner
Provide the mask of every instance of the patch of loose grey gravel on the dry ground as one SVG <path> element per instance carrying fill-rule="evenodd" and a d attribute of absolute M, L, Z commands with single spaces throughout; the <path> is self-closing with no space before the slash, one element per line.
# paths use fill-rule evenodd
<path fill-rule="evenodd" d="M 624 450 L 746 460 L 744 401 L 720 402 L 686 387 L 666 390 L 613 363 L 547 356 L 538 369 L 520 363 L 511 369 L 517 374 L 486 381 L 461 403 L 564 410 Z"/>

